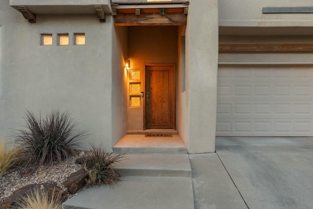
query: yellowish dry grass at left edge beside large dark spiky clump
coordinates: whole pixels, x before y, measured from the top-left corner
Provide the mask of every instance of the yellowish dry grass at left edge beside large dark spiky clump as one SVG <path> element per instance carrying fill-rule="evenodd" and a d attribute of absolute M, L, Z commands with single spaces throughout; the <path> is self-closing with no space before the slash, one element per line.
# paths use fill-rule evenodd
<path fill-rule="evenodd" d="M 19 154 L 17 148 L 5 149 L 4 140 L 0 143 L 0 176 L 5 174 L 9 168 L 14 166 L 18 159 Z"/>

